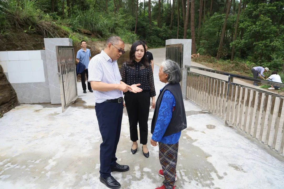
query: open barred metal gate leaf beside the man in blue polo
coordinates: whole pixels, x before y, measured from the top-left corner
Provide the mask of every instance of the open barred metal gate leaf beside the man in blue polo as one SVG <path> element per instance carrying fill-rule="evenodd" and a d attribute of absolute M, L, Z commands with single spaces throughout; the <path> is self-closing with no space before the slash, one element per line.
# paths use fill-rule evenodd
<path fill-rule="evenodd" d="M 72 46 L 56 46 L 62 112 L 78 98 L 75 54 Z"/>

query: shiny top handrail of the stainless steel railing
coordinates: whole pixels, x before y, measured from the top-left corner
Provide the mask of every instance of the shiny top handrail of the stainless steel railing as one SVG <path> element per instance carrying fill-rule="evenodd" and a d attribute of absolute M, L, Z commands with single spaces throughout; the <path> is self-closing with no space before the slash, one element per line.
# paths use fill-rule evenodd
<path fill-rule="evenodd" d="M 246 77 L 246 76 L 242 76 L 242 75 L 226 73 L 226 72 L 222 72 L 222 71 L 217 71 L 217 70 L 212 70 L 212 69 L 207 69 L 207 68 L 201 68 L 201 67 L 196 67 L 196 66 L 185 65 L 185 67 L 192 68 L 192 69 L 198 69 L 198 70 L 202 70 L 202 71 L 207 71 L 207 72 L 211 72 L 211 73 L 216 73 L 216 74 L 220 74 L 220 75 L 226 75 L 226 76 L 235 77 L 235 78 L 239 78 L 239 79 L 250 80 L 250 81 L 254 81 L 254 82 L 258 82 L 258 83 L 262 83 L 262 84 L 267 84 L 267 85 L 272 85 L 272 86 L 276 86 L 276 87 L 284 87 L 284 84 L 279 83 L 279 82 L 267 81 L 267 80 L 262 80 L 262 79 L 255 79 L 255 78 L 252 78 L 252 77 Z"/>

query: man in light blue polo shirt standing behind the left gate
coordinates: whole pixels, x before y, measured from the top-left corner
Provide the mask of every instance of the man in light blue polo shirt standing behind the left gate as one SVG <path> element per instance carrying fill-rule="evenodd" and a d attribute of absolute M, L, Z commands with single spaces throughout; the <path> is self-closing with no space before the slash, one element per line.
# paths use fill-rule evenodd
<path fill-rule="evenodd" d="M 79 63 L 79 61 L 85 65 L 85 70 L 81 73 L 81 82 L 82 82 L 82 88 L 83 88 L 83 93 L 86 92 L 86 80 L 85 80 L 85 73 L 87 74 L 87 79 L 89 78 L 89 73 L 88 73 L 88 65 L 89 61 L 91 60 L 91 51 L 90 49 L 87 48 L 87 43 L 86 41 L 81 41 L 81 49 L 78 50 L 77 56 L 76 56 L 76 62 Z M 93 92 L 91 88 L 91 84 L 88 83 L 88 90 L 90 92 Z"/>

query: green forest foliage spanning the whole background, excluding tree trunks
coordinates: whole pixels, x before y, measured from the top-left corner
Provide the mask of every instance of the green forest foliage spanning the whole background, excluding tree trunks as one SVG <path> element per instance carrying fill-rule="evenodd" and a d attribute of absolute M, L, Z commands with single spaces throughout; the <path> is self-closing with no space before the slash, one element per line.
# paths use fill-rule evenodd
<path fill-rule="evenodd" d="M 51 5 L 51 2 L 55 2 Z M 233 5 L 228 16 L 224 44 L 221 51 L 221 65 L 230 67 L 225 59 L 231 57 L 232 46 L 235 46 L 235 60 L 247 69 L 253 66 L 266 66 L 270 69 L 282 71 L 284 64 L 284 1 L 246 0 L 247 7 L 242 9 L 239 18 L 237 37 L 233 40 L 237 19 L 236 1 L 235 14 Z M 63 6 L 64 3 L 64 6 Z M 11 37 L 14 29 L 20 29 L 26 33 L 48 31 L 49 26 L 42 24 L 49 21 L 56 24 L 64 35 L 68 35 L 76 44 L 82 39 L 85 41 L 97 41 L 107 39 L 111 35 L 120 36 L 125 43 L 133 43 L 143 39 L 150 48 L 165 45 L 167 39 L 183 38 L 183 13 L 180 4 L 180 20 L 177 24 L 177 2 L 174 7 L 172 27 L 170 29 L 171 5 L 169 1 L 163 1 L 161 10 L 161 26 L 158 26 L 158 1 L 151 4 L 151 24 L 148 17 L 148 2 L 139 3 L 137 33 L 135 30 L 136 1 L 116 1 L 118 8 L 114 11 L 114 1 L 108 0 L 106 10 L 105 0 L 77 0 L 70 1 L 71 9 L 66 1 L 49 0 L 0 0 L 0 37 Z M 181 3 L 181 2 L 180 2 Z M 198 53 L 216 56 L 222 27 L 225 20 L 223 14 L 225 0 L 213 1 L 212 14 L 209 13 L 210 3 L 206 3 L 206 14 L 201 28 L 199 24 L 199 3 L 195 1 L 195 37 Z M 243 6 L 243 5 L 242 5 Z M 145 9 L 145 10 L 144 10 Z M 71 15 L 68 15 L 71 10 Z M 92 37 L 80 34 L 83 30 L 89 30 Z M 58 37 L 55 30 L 48 31 L 48 36 Z M 62 34 L 63 35 L 63 34 Z M 62 36 L 61 35 L 61 36 Z M 95 36 L 95 37 L 94 37 Z M 190 19 L 186 33 L 187 39 L 191 38 Z M 97 38 L 97 39 L 96 39 Z M 241 71 L 241 70 L 239 70 Z"/>

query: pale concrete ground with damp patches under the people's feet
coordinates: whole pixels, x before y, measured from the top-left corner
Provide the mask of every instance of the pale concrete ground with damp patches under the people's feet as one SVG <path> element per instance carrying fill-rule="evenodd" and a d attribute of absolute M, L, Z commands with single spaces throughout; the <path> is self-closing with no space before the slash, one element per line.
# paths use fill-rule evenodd
<path fill-rule="evenodd" d="M 159 64 L 154 49 L 150 51 Z M 154 79 L 158 94 L 164 84 L 158 80 L 157 65 Z M 106 189 L 99 181 L 102 141 L 95 100 L 92 93 L 83 94 L 81 83 L 77 85 L 79 98 L 64 113 L 60 105 L 24 104 L 0 119 L 1 189 Z M 283 158 L 225 127 L 222 120 L 191 101 L 184 103 L 187 129 L 179 140 L 177 189 L 283 188 Z M 152 116 L 150 109 L 149 128 Z M 161 186 L 158 147 L 149 143 L 149 158 L 143 156 L 141 145 L 134 155 L 130 148 L 124 109 L 116 155 L 118 163 L 130 165 L 130 170 L 112 175 L 122 189 Z"/>

